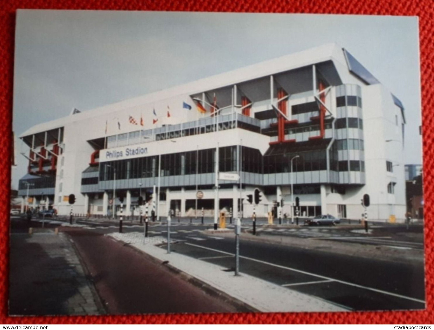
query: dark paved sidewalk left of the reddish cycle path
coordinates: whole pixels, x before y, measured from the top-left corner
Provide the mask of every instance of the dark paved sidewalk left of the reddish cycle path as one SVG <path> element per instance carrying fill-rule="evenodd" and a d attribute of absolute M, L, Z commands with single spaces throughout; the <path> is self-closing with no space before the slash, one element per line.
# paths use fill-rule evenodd
<path fill-rule="evenodd" d="M 10 235 L 9 314 L 104 314 L 66 235 L 34 230 Z"/>

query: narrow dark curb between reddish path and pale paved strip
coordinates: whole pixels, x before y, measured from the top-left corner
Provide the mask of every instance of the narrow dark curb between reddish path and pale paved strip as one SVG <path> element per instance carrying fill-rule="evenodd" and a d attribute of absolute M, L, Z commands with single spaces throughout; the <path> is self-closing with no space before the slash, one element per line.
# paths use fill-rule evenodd
<path fill-rule="evenodd" d="M 122 244 L 122 241 L 117 240 L 117 239 L 113 238 L 112 236 L 107 235 L 106 237 L 109 237 L 110 239 L 114 240 L 118 244 Z M 124 244 L 122 244 L 122 245 L 124 245 Z M 164 266 L 164 267 L 168 268 L 168 270 L 171 271 L 173 274 L 179 275 L 184 281 L 187 281 L 188 283 L 193 284 L 195 287 L 204 291 L 205 294 L 208 294 L 211 297 L 216 297 L 216 298 L 224 301 L 225 303 L 232 305 L 233 307 L 235 307 L 237 309 L 237 313 L 247 313 L 247 312 L 259 313 L 260 312 L 260 310 L 257 310 L 256 308 L 251 307 L 250 305 L 238 300 L 237 298 L 230 296 L 226 292 L 218 290 L 218 289 L 210 286 L 209 284 L 205 283 L 204 281 L 201 281 L 198 278 L 195 278 L 195 277 L 191 276 L 190 274 L 187 274 L 184 271 L 179 270 L 178 268 L 170 265 L 169 263 L 164 263 L 163 260 L 155 258 L 151 255 L 148 255 L 146 252 L 141 251 L 140 249 L 138 249 L 138 248 L 136 248 L 130 244 L 124 245 L 124 246 L 133 249 L 135 252 L 140 253 L 145 258 L 147 258 L 148 260 L 155 263 L 155 265 L 159 265 L 160 267 Z"/>

